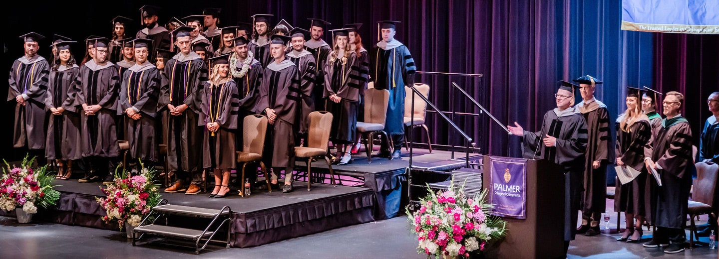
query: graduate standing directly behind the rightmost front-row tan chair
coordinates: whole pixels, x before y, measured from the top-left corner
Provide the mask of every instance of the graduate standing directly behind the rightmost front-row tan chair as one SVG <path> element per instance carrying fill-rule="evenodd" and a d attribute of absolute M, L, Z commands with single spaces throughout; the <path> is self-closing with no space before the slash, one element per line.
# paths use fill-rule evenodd
<path fill-rule="evenodd" d="M 317 63 L 312 53 L 305 50 L 305 42 L 310 39 L 310 32 L 306 29 L 296 27 L 290 32 L 290 37 L 292 38 L 290 39 L 292 50 L 287 53 L 287 57 L 295 63 L 302 78 L 302 82 L 300 83 L 302 105 L 298 109 L 300 121 L 298 123 L 299 125 L 296 126 L 298 137 L 295 139 L 296 143 L 299 144 L 303 143 L 302 140 L 305 139 L 307 135 L 307 128 L 309 127 L 307 118 L 309 118 L 311 112 L 315 111 L 312 90 L 316 81 L 315 73 L 317 71 Z"/>

